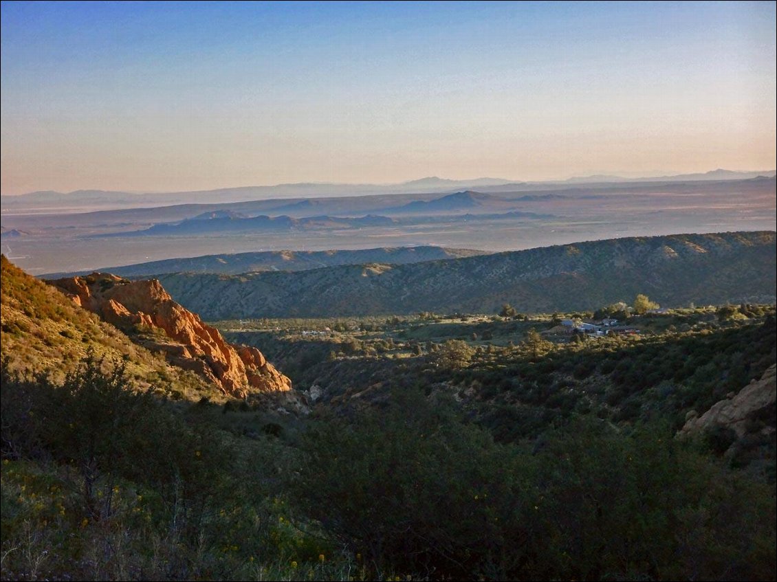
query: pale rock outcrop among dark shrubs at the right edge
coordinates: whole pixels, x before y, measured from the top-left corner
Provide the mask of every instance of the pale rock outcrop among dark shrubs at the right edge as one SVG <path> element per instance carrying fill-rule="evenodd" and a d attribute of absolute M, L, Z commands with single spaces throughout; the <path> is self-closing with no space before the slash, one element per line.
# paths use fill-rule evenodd
<path fill-rule="evenodd" d="M 775 407 L 777 402 L 777 383 L 775 368 L 772 364 L 761 379 L 755 379 L 731 398 L 720 400 L 699 417 L 690 417 L 685 422 L 681 434 L 702 431 L 714 426 L 731 428 L 742 438 L 747 432 L 747 420 L 755 414 Z"/>

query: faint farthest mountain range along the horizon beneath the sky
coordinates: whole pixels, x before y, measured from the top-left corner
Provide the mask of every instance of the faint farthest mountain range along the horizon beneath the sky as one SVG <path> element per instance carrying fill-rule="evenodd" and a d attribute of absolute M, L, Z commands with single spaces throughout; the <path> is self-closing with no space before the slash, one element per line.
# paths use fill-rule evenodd
<path fill-rule="evenodd" d="M 471 180 L 450 180 L 446 178 L 420 178 L 399 184 L 330 184 L 299 183 L 270 186 L 243 186 L 213 190 L 187 192 L 115 192 L 105 190 L 76 190 L 55 192 L 52 190 L 30 192 L 21 196 L 2 196 L 2 210 L 68 208 L 80 209 L 99 207 L 139 208 L 143 206 L 169 206 L 174 204 L 236 203 L 262 199 L 322 198 L 327 196 L 366 196 L 378 194 L 409 194 L 426 192 L 451 192 L 462 189 L 532 189 L 559 184 L 610 183 L 610 182 L 664 182 L 664 181 L 710 181 L 772 177 L 775 170 L 730 171 L 717 169 L 700 174 L 682 174 L 646 178 L 622 178 L 616 175 L 593 175 L 570 178 L 569 180 L 546 182 L 520 182 L 501 178 L 474 178 Z"/>

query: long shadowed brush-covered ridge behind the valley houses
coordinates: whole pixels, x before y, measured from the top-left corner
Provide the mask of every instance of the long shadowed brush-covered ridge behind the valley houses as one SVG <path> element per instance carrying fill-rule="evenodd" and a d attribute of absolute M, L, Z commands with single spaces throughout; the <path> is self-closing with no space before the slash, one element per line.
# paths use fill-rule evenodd
<path fill-rule="evenodd" d="M 462 310 L 587 310 L 645 293 L 672 306 L 775 300 L 775 232 L 677 234 L 565 244 L 412 265 L 162 275 L 206 320 Z"/>

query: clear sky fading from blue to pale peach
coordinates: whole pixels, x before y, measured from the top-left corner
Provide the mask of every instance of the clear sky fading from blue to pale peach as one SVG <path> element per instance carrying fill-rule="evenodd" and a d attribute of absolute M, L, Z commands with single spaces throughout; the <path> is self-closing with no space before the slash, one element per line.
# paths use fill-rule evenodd
<path fill-rule="evenodd" d="M 0 192 L 775 165 L 775 2 L 2 2 Z"/>

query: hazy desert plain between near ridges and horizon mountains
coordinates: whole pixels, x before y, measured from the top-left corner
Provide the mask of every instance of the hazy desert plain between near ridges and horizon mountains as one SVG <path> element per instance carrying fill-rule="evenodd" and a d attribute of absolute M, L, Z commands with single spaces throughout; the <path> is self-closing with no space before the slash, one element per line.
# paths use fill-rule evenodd
<path fill-rule="evenodd" d="M 428 202 L 447 195 L 439 193 L 338 196 L 328 199 L 260 200 L 234 204 L 187 204 L 95 213 L 2 213 L 2 226 L 25 231 L 19 237 L 3 236 L 3 250 L 15 257 L 28 272 L 92 271 L 103 265 L 131 263 L 260 249 L 371 248 L 440 245 L 451 248 L 479 248 L 487 251 L 521 250 L 580 240 L 603 240 L 645 234 L 706 233 L 712 231 L 774 230 L 775 178 L 708 182 L 644 182 L 639 184 L 552 185 L 530 190 L 491 192 L 483 186 L 477 192 L 493 193 L 497 205 L 483 202 L 470 209 L 439 213 L 388 213 L 415 201 Z M 483 192 L 487 190 L 487 192 Z M 289 210 L 292 203 L 294 210 Z M 279 212 L 277 209 L 286 207 Z M 225 214 L 221 214 L 224 211 Z M 497 213 L 535 213 L 532 217 L 487 217 Z M 211 224 L 189 224 L 191 233 L 138 237 L 120 233 L 144 230 L 159 223 L 175 223 L 194 217 L 209 218 L 285 215 L 305 217 L 384 216 L 399 221 L 385 226 L 343 227 L 337 222 L 315 223 L 306 229 L 272 230 L 236 228 L 252 224 L 236 222 L 219 232 Z M 462 217 L 462 214 L 478 215 Z M 205 215 L 205 216 L 202 216 Z M 448 218 L 449 217 L 449 218 Z M 451 222 L 445 220 L 457 221 Z M 463 220 L 466 219 L 466 222 Z M 517 219 L 517 220 L 516 220 Z M 475 223 L 474 220 L 480 222 Z M 423 222 L 425 221 L 425 222 Z M 211 220 L 199 220 L 210 223 Z M 225 220 L 225 224 L 228 221 Z M 267 227 L 274 224 L 267 222 Z M 163 227 L 162 230 L 168 227 Z M 213 228 L 211 234 L 200 231 Z M 176 230 L 176 229 L 173 229 Z M 232 234 L 230 234 L 232 233 Z M 99 242 L 87 239 L 115 234 Z M 249 235 L 249 236 L 246 236 Z M 132 238 L 131 238 L 132 237 Z M 165 239 L 166 240 L 163 240 Z M 136 242 L 137 241 L 137 242 Z"/>

